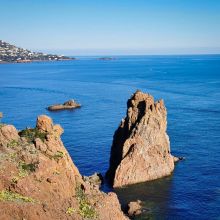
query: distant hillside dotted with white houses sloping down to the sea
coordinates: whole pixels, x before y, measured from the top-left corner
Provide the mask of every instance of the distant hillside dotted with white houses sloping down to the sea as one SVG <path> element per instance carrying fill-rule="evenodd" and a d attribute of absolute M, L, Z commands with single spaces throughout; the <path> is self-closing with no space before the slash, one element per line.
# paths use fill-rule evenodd
<path fill-rule="evenodd" d="M 59 61 L 72 59 L 74 58 L 63 55 L 33 52 L 0 40 L 0 63 L 23 63 L 32 61 Z"/>

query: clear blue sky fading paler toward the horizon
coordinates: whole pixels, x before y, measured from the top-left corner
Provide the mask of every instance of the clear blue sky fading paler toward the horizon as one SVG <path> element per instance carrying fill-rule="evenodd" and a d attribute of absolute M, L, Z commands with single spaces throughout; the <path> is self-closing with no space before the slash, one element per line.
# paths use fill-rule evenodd
<path fill-rule="evenodd" d="M 0 0 L 0 39 L 67 55 L 220 53 L 220 0 Z"/>

